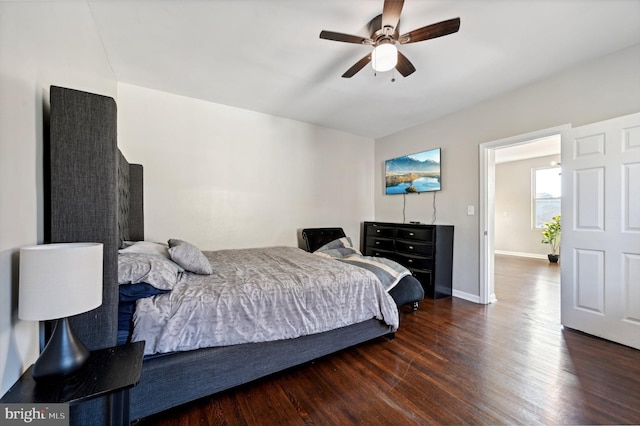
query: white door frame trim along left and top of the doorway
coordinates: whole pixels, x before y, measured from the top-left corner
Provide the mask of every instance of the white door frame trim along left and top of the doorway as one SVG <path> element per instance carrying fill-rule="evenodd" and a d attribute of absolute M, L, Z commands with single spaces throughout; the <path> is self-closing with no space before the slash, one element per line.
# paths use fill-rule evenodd
<path fill-rule="evenodd" d="M 480 288 L 479 302 L 482 304 L 498 301 L 495 294 L 494 282 L 494 239 L 495 239 L 495 187 L 496 187 L 496 162 L 495 150 L 508 146 L 522 145 L 533 139 L 540 139 L 570 129 L 571 124 L 537 130 L 531 133 L 512 136 L 491 142 L 481 143 L 479 149 L 480 162 Z M 560 266 L 562 268 L 562 266 Z"/>

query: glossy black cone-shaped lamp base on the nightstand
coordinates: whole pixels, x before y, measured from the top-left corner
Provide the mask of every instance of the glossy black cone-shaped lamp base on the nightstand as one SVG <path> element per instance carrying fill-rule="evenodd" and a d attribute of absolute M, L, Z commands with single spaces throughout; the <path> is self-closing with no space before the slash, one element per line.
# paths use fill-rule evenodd
<path fill-rule="evenodd" d="M 69 319 L 59 319 L 33 366 L 33 379 L 37 382 L 60 380 L 82 368 L 87 359 L 89 350 L 74 334 Z"/>

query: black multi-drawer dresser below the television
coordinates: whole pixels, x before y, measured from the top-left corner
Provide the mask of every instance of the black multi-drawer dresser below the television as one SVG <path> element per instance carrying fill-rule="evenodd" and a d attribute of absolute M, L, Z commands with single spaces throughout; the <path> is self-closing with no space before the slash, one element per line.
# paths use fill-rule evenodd
<path fill-rule="evenodd" d="M 427 297 L 451 296 L 453 226 L 364 222 L 362 253 L 395 260 L 416 277 Z"/>

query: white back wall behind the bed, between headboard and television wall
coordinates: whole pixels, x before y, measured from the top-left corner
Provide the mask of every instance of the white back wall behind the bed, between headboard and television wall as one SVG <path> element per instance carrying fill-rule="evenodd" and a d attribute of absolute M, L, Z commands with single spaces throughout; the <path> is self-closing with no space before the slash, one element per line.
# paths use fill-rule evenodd
<path fill-rule="evenodd" d="M 359 241 L 373 218 L 372 139 L 128 84 L 118 129 L 145 168 L 147 240 L 297 246 L 301 228 L 341 226 Z"/>

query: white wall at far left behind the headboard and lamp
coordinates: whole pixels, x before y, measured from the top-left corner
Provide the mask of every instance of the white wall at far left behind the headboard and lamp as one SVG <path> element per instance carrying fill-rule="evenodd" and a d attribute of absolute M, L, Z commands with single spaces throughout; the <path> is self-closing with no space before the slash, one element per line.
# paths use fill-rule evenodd
<path fill-rule="evenodd" d="M 38 353 L 17 312 L 18 252 L 43 239 L 43 109 L 49 85 L 116 94 L 85 2 L 0 2 L 0 395 Z"/>

